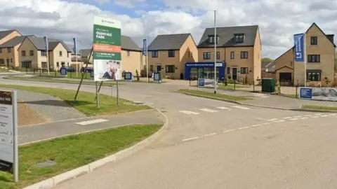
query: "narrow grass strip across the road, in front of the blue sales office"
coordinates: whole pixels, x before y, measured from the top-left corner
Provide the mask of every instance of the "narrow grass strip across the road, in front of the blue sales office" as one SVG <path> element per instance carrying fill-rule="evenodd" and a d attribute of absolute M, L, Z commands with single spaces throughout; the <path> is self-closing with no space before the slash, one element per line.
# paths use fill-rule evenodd
<path fill-rule="evenodd" d="M 227 94 L 214 94 L 213 92 L 206 92 L 206 91 L 201 91 L 201 90 L 187 90 L 187 89 L 180 89 L 178 92 L 187 94 L 187 95 L 192 95 L 196 97 L 204 97 L 208 99 L 216 99 L 216 100 L 223 100 L 223 101 L 242 101 L 242 100 L 248 100 L 251 98 L 247 97 L 238 97 L 238 96 L 232 96 L 232 95 L 227 95 Z"/>

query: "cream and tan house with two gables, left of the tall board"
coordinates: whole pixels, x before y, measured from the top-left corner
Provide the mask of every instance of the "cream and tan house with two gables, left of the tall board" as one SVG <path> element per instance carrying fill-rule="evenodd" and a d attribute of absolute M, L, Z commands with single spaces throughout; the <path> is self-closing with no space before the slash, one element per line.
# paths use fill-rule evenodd
<path fill-rule="evenodd" d="M 22 68 L 58 70 L 62 65 L 70 66 L 71 52 L 61 40 L 48 39 L 48 57 L 44 38 L 26 36 L 18 48 L 19 64 Z"/>

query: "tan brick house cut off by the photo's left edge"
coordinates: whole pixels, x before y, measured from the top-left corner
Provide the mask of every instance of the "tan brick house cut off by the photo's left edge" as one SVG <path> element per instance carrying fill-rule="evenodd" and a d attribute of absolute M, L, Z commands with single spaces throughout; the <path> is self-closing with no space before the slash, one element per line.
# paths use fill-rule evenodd
<path fill-rule="evenodd" d="M 13 49 L 17 41 L 17 37 L 22 36 L 16 30 L 0 31 L 0 64 L 6 66 L 15 66 L 15 50 Z M 14 41 L 11 41 L 16 38 Z M 8 43 L 7 43 L 8 42 Z"/>

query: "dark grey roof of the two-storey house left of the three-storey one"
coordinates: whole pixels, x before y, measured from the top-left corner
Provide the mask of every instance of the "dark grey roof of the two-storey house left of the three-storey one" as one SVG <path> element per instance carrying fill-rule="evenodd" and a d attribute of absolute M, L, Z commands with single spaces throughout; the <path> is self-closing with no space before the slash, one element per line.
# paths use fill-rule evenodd
<path fill-rule="evenodd" d="M 158 35 L 147 50 L 178 50 L 185 43 L 190 34 Z"/>

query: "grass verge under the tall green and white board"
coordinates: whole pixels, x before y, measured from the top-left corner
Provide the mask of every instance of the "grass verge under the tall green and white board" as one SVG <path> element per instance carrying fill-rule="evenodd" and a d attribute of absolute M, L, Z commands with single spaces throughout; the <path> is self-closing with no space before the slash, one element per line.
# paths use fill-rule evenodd
<path fill-rule="evenodd" d="M 76 94 L 75 90 L 65 90 L 48 87 L 30 87 L 21 85 L 0 85 L 0 88 L 27 90 L 30 92 L 49 94 L 53 97 L 58 97 L 62 99 L 64 102 L 66 102 L 70 106 L 73 106 L 75 109 L 81 111 L 87 116 L 97 116 L 151 109 L 150 106 L 126 104 L 125 102 L 129 102 L 126 99 L 119 99 L 119 106 L 117 106 L 117 98 L 110 97 L 105 94 L 100 94 L 100 107 L 97 109 L 95 104 L 95 93 L 91 92 L 79 92 L 77 102 L 74 102 L 74 97 Z"/>

